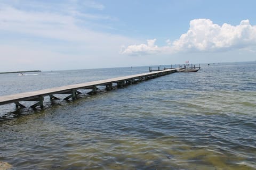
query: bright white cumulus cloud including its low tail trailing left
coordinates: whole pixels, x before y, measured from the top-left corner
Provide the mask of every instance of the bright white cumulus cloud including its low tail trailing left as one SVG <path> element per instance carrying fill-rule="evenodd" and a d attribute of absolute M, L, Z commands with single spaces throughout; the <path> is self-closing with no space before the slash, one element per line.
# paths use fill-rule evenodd
<path fill-rule="evenodd" d="M 150 40 L 148 40 L 150 41 Z M 156 39 L 151 40 L 156 41 Z M 256 46 L 256 26 L 249 20 L 243 20 L 239 25 L 214 24 L 209 19 L 190 21 L 189 30 L 183 33 L 173 43 L 168 39 L 166 46 L 158 47 L 146 44 L 131 45 L 125 48 L 123 54 L 137 54 L 158 51 L 163 53 L 177 52 L 216 52 L 219 50 L 243 49 Z M 147 47 L 147 48 L 143 48 Z"/>

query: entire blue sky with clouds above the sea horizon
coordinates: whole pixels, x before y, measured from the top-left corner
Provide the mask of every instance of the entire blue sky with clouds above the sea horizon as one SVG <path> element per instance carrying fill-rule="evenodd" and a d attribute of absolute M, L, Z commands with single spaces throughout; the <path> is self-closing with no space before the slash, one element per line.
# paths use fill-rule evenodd
<path fill-rule="evenodd" d="M 0 72 L 256 61 L 254 0 L 0 0 Z"/>

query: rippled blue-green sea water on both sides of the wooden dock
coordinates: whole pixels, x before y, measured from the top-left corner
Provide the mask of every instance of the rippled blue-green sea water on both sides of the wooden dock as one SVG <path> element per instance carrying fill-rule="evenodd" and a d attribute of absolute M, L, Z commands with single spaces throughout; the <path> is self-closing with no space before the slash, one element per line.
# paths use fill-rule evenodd
<path fill-rule="evenodd" d="M 0 169 L 256 169 L 256 62 L 201 66 L 43 110 L 0 106 Z M 144 72 L 0 74 L 0 94 Z"/>

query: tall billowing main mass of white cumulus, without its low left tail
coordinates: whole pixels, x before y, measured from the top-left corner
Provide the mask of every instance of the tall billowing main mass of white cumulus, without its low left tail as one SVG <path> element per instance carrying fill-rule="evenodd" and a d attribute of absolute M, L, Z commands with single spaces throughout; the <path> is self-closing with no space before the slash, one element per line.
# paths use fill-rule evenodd
<path fill-rule="evenodd" d="M 239 25 L 213 24 L 211 20 L 197 19 L 190 21 L 187 33 L 175 40 L 173 46 L 178 50 L 215 51 L 223 48 L 244 48 L 256 45 L 256 26 L 249 20 L 243 20 Z"/>

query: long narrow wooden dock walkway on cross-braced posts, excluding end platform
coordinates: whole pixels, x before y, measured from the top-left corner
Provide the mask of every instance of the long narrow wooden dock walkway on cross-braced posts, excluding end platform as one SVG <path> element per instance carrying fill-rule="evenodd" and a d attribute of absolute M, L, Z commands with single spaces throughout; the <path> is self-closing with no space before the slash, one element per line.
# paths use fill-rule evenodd
<path fill-rule="evenodd" d="M 106 86 L 106 90 L 111 90 L 114 88 L 114 85 L 115 87 L 123 87 L 129 84 L 137 83 L 139 81 L 146 81 L 149 79 L 160 77 L 162 75 L 171 74 L 171 73 L 177 72 L 178 70 L 179 68 L 166 69 L 162 71 L 155 71 L 155 72 L 149 72 L 149 73 L 129 75 L 125 77 L 73 84 L 69 86 L 62 86 L 62 87 L 51 88 L 51 89 L 24 92 L 21 94 L 0 96 L 0 105 L 14 103 L 16 108 L 19 108 L 19 107 L 24 108 L 26 106 L 22 105 L 20 101 L 34 101 L 34 103 L 36 101 L 36 103 L 31 105 L 30 107 L 35 108 L 37 106 L 40 106 L 41 108 L 43 108 L 44 107 L 43 101 L 44 101 L 44 97 L 46 96 L 49 96 L 51 100 L 54 100 L 54 99 L 59 99 L 54 95 L 67 94 L 68 96 L 64 98 L 65 100 L 69 100 L 70 98 L 74 100 L 77 98 L 77 95 L 82 94 L 80 91 L 78 91 L 81 89 L 90 89 L 91 91 L 89 92 L 89 94 L 95 94 L 97 93 L 98 86 Z"/>

